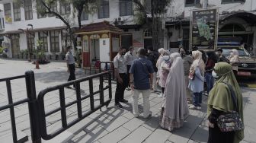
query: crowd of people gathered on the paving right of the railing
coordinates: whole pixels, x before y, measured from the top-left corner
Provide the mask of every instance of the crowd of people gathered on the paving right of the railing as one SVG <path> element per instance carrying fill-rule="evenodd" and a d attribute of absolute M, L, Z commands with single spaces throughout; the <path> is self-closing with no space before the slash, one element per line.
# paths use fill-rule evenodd
<path fill-rule="evenodd" d="M 138 49 L 137 54 L 134 54 L 133 50 L 133 47 L 130 47 L 126 52 L 122 47 L 114 58 L 117 77 L 115 106 L 122 108 L 120 102 L 128 102 L 123 98 L 124 91 L 132 90 L 134 116 L 139 116 L 138 98 L 139 94 L 142 94 L 143 117 L 149 118 L 152 116 L 149 95 L 160 87 L 162 106 L 159 109 L 159 124 L 163 129 L 172 131 L 183 126 L 189 109 L 201 110 L 203 92 L 206 91 L 208 142 L 242 140 L 243 130 L 222 132 L 217 124 L 219 116 L 233 110 L 236 110 L 243 120 L 242 93 L 235 78 L 239 60 L 236 49 L 232 49 L 227 58 L 222 55 L 222 49 L 206 53 L 194 48 L 190 54 L 183 48 L 171 54 L 165 49 L 154 52 L 152 47 L 147 51 Z M 230 95 L 232 90 L 235 91 L 237 99 L 235 103 L 232 103 Z"/>

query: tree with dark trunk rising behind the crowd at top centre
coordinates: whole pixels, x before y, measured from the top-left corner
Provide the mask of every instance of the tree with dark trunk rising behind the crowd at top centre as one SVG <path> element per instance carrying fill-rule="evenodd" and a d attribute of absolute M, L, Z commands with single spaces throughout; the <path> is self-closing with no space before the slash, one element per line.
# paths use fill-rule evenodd
<path fill-rule="evenodd" d="M 161 37 L 159 34 L 162 33 L 162 18 L 171 0 L 133 0 L 133 3 L 136 5 L 136 12 L 140 23 L 146 24 L 148 28 L 152 28 L 153 48 L 161 48 Z M 148 15 L 151 15 L 151 17 Z"/>

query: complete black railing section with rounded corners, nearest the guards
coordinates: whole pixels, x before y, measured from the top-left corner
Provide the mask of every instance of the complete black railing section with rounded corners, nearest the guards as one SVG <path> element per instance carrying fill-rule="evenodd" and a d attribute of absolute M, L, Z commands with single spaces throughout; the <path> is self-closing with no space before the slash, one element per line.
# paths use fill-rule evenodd
<path fill-rule="evenodd" d="M 108 77 L 108 85 L 104 87 L 104 76 Z M 99 91 L 94 91 L 93 90 L 93 79 L 94 78 L 99 78 L 100 84 L 99 84 Z M 90 94 L 81 97 L 81 91 L 80 91 L 80 83 L 88 81 L 89 82 L 89 91 Z M 76 100 L 72 101 L 71 103 L 65 102 L 65 92 L 64 92 L 64 87 L 67 87 L 69 85 L 74 85 L 75 86 L 75 91 L 76 91 Z M 108 100 L 104 101 L 104 91 L 108 89 L 109 91 L 109 98 Z M 47 93 L 51 91 L 59 91 L 59 102 L 60 102 L 60 107 L 51 110 L 50 112 L 45 112 L 45 106 L 44 106 L 44 97 L 46 96 Z M 99 106 L 94 106 L 94 95 L 99 94 L 100 95 L 100 105 Z M 82 113 L 82 100 L 90 98 L 90 108 L 87 113 L 83 114 Z M 41 138 L 45 140 L 50 140 L 51 138 L 54 138 L 56 135 L 59 135 L 61 132 L 64 132 L 66 129 L 69 129 L 71 126 L 74 126 L 75 123 L 81 121 L 82 119 L 85 119 L 85 117 L 91 115 L 91 113 L 94 113 L 96 110 L 101 109 L 103 106 L 108 106 L 110 103 L 110 100 L 112 99 L 112 89 L 111 89 L 111 74 L 109 71 L 101 72 L 96 75 L 91 75 L 85 78 L 77 79 L 75 81 L 69 81 L 65 84 L 59 84 L 55 87 L 49 87 L 46 88 L 43 91 L 40 91 L 38 95 L 38 106 L 40 110 L 40 134 Z M 69 106 L 72 106 L 74 104 L 77 104 L 77 110 L 78 110 L 78 117 L 75 120 L 72 120 L 72 122 L 67 122 L 67 116 L 66 116 L 66 108 Z M 61 121 L 62 121 L 62 128 L 56 130 L 56 132 L 53 132 L 49 134 L 47 132 L 47 127 L 46 127 L 46 117 L 52 115 L 53 113 L 56 113 L 60 111 L 61 113 Z"/>

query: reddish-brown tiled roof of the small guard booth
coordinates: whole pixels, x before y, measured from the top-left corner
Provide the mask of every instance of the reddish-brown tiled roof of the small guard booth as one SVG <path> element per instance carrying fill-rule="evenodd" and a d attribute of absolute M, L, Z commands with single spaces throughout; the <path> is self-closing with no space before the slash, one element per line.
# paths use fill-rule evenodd
<path fill-rule="evenodd" d="M 87 24 L 83 26 L 81 29 L 75 31 L 77 34 L 90 34 L 90 33 L 120 33 L 123 30 L 121 30 L 118 27 L 115 27 L 114 25 L 110 24 L 108 21 L 93 23 L 93 24 Z"/>

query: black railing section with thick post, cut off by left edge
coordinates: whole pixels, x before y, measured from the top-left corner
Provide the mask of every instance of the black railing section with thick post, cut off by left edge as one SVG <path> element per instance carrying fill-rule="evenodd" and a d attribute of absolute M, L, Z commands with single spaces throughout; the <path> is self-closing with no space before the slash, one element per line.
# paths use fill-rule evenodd
<path fill-rule="evenodd" d="M 26 81 L 26 88 L 27 88 L 27 97 L 23 100 L 19 100 L 17 102 L 13 102 L 13 97 L 11 93 L 11 81 L 24 79 Z M 15 113 L 14 113 L 14 106 L 21 105 L 23 103 L 28 104 L 28 111 L 30 116 L 30 130 L 31 130 L 31 139 L 33 142 L 38 142 L 38 138 L 40 137 L 40 130 L 38 124 L 38 116 L 37 116 L 37 94 L 36 94 L 36 87 L 34 81 L 34 72 L 27 71 L 25 75 L 15 76 L 11 78 L 2 78 L 0 82 L 6 83 L 7 89 L 7 96 L 8 96 L 8 104 L 5 106 L 0 106 L 0 111 L 2 110 L 10 110 L 11 116 L 11 132 L 12 132 L 12 140 L 14 143 L 18 142 L 17 138 L 17 129 L 16 129 L 16 122 L 15 122 Z M 24 138 L 25 141 L 28 138 Z M 39 141 L 40 142 L 40 141 Z"/>

